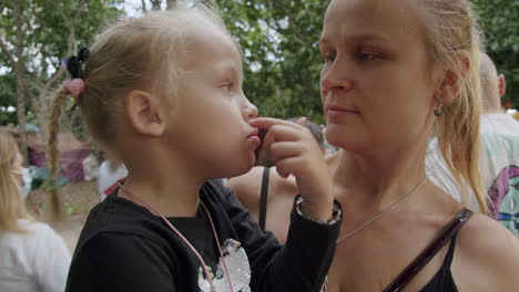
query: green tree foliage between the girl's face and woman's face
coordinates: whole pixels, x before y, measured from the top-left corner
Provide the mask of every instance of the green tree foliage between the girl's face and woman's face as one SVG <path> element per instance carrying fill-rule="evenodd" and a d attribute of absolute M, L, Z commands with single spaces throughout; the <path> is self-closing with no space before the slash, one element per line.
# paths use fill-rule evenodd
<path fill-rule="evenodd" d="M 244 91 L 263 116 L 323 123 L 318 39 L 327 1 L 215 0 L 244 54 Z"/>

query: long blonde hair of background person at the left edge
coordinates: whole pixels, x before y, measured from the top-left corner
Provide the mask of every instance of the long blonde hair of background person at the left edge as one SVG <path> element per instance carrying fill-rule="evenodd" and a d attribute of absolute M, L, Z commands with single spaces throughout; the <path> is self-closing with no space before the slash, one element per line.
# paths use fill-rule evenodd
<path fill-rule="evenodd" d="M 19 219 L 33 220 L 29 213 L 21 188 L 12 174 L 18 144 L 11 134 L 0 131 L 0 232 L 24 232 Z"/>

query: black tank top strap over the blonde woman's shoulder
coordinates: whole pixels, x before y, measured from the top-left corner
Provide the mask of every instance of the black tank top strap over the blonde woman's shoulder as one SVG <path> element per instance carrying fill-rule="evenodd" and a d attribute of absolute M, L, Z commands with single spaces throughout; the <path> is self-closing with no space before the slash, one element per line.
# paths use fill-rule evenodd
<path fill-rule="evenodd" d="M 456 217 L 439 232 L 432 242 L 384 290 L 384 292 L 401 291 L 415 275 L 447 244 L 454 239 L 458 231 L 472 216 L 472 211 L 464 208 Z M 456 240 L 450 241 L 449 251 L 446 257 L 446 263 L 452 262 L 454 248 Z"/>

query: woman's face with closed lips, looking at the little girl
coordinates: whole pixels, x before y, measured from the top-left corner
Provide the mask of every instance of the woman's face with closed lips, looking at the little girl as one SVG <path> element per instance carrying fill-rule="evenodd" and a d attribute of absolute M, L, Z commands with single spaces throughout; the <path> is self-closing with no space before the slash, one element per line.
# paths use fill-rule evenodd
<path fill-rule="evenodd" d="M 440 83 L 409 0 L 333 0 L 320 52 L 326 139 L 352 152 L 427 135 Z M 391 147 L 395 146 L 395 147 Z"/>

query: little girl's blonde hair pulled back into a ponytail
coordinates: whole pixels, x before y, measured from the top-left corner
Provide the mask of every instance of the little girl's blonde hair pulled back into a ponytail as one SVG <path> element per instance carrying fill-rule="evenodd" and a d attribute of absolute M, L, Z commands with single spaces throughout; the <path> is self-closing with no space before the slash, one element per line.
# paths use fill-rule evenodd
<path fill-rule="evenodd" d="M 187 30 L 197 22 L 207 22 L 230 35 L 221 18 L 199 3 L 195 9 L 176 8 L 122 20 L 99 34 L 89 48 L 89 59 L 81 75 L 84 91 L 80 96 L 80 108 L 90 134 L 115 159 L 119 157 L 112 146 L 118 137 L 123 97 L 135 90 L 159 96 L 175 95 L 177 81 L 184 72 L 182 60 L 189 54 L 184 50 Z M 69 98 L 69 92 L 63 87 L 53 98 L 49 131 L 51 177 L 59 170 L 59 118 Z M 59 205 L 55 190 L 52 201 L 54 207 Z"/>

